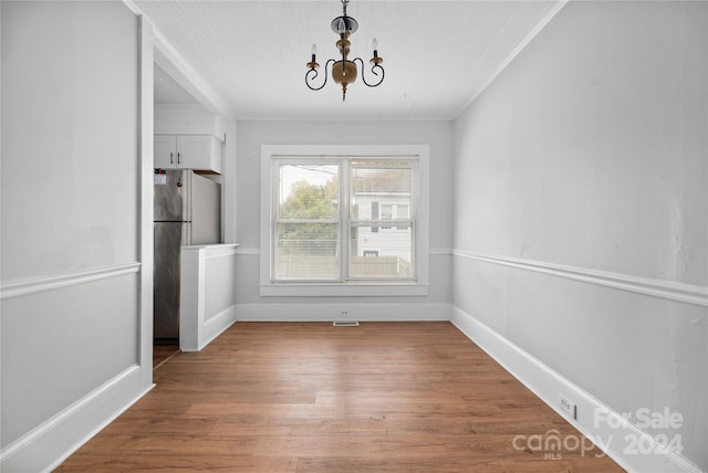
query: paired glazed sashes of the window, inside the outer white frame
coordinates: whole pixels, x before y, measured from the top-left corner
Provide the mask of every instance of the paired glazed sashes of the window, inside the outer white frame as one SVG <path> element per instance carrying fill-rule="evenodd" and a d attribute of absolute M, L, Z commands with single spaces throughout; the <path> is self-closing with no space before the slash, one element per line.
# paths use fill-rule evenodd
<path fill-rule="evenodd" d="M 397 209 L 415 203 L 417 161 L 273 158 L 271 281 L 415 281 L 414 220 Z"/>

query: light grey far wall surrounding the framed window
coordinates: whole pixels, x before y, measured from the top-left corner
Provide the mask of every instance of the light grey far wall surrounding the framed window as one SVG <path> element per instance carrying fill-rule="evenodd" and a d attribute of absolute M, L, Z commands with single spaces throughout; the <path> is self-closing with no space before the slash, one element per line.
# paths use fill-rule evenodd
<path fill-rule="evenodd" d="M 451 301 L 452 125 L 448 122 L 239 122 L 237 135 L 238 318 L 333 319 L 333 305 L 417 304 L 429 317 L 447 317 Z M 261 297 L 259 295 L 261 145 L 430 145 L 430 291 L 416 297 Z M 294 306 L 293 304 L 298 304 Z M 376 304 L 374 307 L 371 304 Z M 302 311 L 293 308 L 301 307 Z M 317 308 L 319 307 L 319 308 Z M 350 307 L 351 308 L 351 307 Z M 321 312 L 319 312 L 319 309 Z M 389 311 L 392 314 L 392 311 Z M 393 315 L 405 315 L 402 313 Z M 412 315 L 413 317 L 413 315 Z M 418 316 L 415 316 L 418 317 Z"/>

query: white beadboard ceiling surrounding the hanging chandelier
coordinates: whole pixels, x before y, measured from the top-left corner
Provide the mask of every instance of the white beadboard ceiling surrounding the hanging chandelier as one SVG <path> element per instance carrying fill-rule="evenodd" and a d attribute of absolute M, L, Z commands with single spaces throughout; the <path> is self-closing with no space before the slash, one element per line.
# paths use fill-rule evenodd
<path fill-rule="evenodd" d="M 347 90 L 304 83 L 312 44 L 323 66 L 340 0 L 132 0 L 237 119 L 452 119 L 563 4 L 560 1 L 351 0 L 352 56 L 368 64 L 378 40 L 385 80 Z M 321 73 L 322 73 L 321 66 Z M 368 70 L 366 71 L 369 72 Z M 322 76 L 322 74 L 321 74 Z M 369 76 L 371 77 L 371 76 Z M 369 80 L 371 81 L 371 80 Z M 196 99 L 155 69 L 158 103 Z"/>

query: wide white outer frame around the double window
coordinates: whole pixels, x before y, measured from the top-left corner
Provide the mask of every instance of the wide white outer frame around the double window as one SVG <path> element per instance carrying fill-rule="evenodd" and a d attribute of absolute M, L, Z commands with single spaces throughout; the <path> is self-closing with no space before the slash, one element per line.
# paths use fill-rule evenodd
<path fill-rule="evenodd" d="M 409 158 L 417 156 L 415 261 L 417 281 L 272 282 L 274 171 L 279 157 Z M 261 146 L 261 296 L 425 296 L 429 253 L 428 145 L 262 145 Z"/>

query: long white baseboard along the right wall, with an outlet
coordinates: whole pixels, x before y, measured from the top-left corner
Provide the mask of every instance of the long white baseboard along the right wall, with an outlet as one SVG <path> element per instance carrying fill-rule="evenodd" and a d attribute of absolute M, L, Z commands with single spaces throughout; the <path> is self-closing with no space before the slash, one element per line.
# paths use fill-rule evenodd
<path fill-rule="evenodd" d="M 701 470 L 685 456 L 665 449 L 653 435 L 627 422 L 620 412 L 610 409 L 470 314 L 452 307 L 450 320 L 623 469 L 628 472 L 701 473 Z M 561 409 L 560 393 L 576 404 L 577 419 L 571 419 Z M 647 453 L 641 453 L 637 444 L 641 446 L 638 450 Z M 539 452 L 541 459 L 543 453 Z"/>

